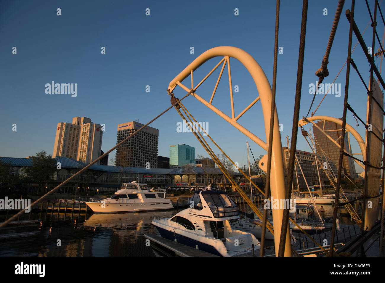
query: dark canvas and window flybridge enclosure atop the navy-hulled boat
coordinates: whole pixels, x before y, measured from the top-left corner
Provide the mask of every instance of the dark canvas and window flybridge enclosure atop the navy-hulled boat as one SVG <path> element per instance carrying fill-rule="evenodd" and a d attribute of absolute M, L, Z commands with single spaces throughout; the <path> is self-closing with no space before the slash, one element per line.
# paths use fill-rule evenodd
<path fill-rule="evenodd" d="M 225 192 L 202 192 L 202 196 L 209 205 L 214 217 L 219 218 L 238 215 L 237 205 Z"/>

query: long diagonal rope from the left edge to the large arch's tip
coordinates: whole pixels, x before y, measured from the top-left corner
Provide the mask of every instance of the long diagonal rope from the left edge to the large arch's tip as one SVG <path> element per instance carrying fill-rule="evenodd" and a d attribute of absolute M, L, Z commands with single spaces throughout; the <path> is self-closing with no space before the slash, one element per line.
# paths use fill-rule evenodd
<path fill-rule="evenodd" d="M 184 97 L 182 97 L 182 99 L 180 100 L 183 100 L 185 99 L 187 96 L 189 96 L 191 94 L 191 92 L 188 92 Z M 180 101 L 179 100 L 179 101 Z M 99 156 L 97 159 L 95 159 L 94 161 L 92 161 L 90 164 L 88 164 L 87 166 L 85 166 L 83 169 L 81 169 L 80 171 L 78 171 L 77 173 L 75 173 L 74 175 L 72 175 L 70 178 L 68 178 L 67 180 L 65 180 L 64 182 L 62 182 L 61 184 L 57 185 L 54 189 L 52 189 L 51 191 L 49 191 L 48 193 L 44 194 L 42 197 L 40 197 L 39 199 L 37 199 L 36 201 L 34 201 L 32 204 L 30 204 L 30 206 L 28 206 L 27 208 L 24 208 L 22 209 L 21 211 L 19 211 L 18 213 L 16 213 L 15 215 L 13 215 L 11 218 L 7 219 L 6 221 L 4 221 L 2 224 L 0 224 L 0 228 L 6 226 L 8 223 L 10 223 L 13 219 L 16 219 L 18 218 L 19 216 L 21 216 L 23 214 L 23 212 L 26 210 L 26 209 L 29 209 L 30 207 L 34 206 L 35 204 L 37 204 L 39 201 L 43 200 L 46 196 L 54 193 L 57 189 L 59 189 L 61 186 L 67 184 L 70 180 L 74 179 L 76 176 L 78 176 L 81 172 L 87 170 L 90 166 L 92 166 L 93 164 L 95 164 L 96 162 L 98 162 L 100 159 L 102 159 L 104 156 L 107 156 L 107 154 L 109 154 L 111 151 L 113 151 L 115 148 L 117 148 L 118 146 L 120 146 L 121 144 L 123 144 L 124 142 L 126 142 L 129 138 L 131 138 L 132 136 L 134 136 L 137 132 L 141 131 L 144 127 L 147 127 L 149 124 L 151 124 L 152 122 L 154 122 L 156 119 L 158 119 L 159 117 L 161 117 L 164 113 L 166 113 L 167 111 L 169 111 L 172 107 L 174 107 L 175 105 L 177 105 L 179 103 L 179 101 L 175 102 L 173 105 L 171 105 L 170 107 L 168 107 L 165 111 L 163 111 L 161 114 L 159 114 L 158 116 L 156 116 L 154 119 L 152 119 L 150 122 L 148 122 L 146 125 L 142 126 L 140 129 L 138 129 L 137 131 L 135 131 L 134 133 L 132 133 L 130 136 L 126 137 L 126 139 L 124 139 L 123 141 L 119 142 L 119 144 L 117 144 L 116 146 L 112 147 L 109 151 L 105 152 L 103 155 Z"/>

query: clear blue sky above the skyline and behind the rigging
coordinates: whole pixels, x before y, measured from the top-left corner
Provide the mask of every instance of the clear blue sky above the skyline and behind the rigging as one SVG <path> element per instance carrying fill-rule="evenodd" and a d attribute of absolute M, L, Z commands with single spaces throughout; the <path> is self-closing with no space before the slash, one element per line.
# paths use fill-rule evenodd
<path fill-rule="evenodd" d="M 369 1 L 371 7 L 374 0 Z M 315 71 L 325 54 L 337 1 L 309 1 L 308 22 L 300 117 L 305 116 L 312 96 L 309 84 L 318 81 Z M 331 49 L 324 83 L 331 83 L 343 66 L 348 47 L 346 1 L 336 37 Z M 385 3 L 382 5 L 385 11 Z M 56 9 L 61 9 L 57 16 Z M 146 16 L 146 8 L 150 15 Z M 234 9 L 239 15 L 234 15 Z M 323 9 L 328 15 L 323 15 Z M 278 46 L 276 104 L 281 138 L 291 135 L 293 121 L 298 47 L 302 1 L 281 1 Z M 364 1 L 356 1 L 355 20 L 361 32 L 370 21 Z M 378 34 L 383 23 L 378 19 Z M 0 156 L 26 157 L 41 150 L 52 154 L 56 125 L 71 122 L 72 117 L 85 116 L 94 123 L 105 124 L 102 150 L 116 144 L 117 124 L 135 121 L 145 124 L 169 107 L 166 89 L 169 82 L 204 51 L 223 45 L 239 47 L 261 65 L 270 84 L 273 80 L 275 30 L 274 1 L 2 1 L 0 3 Z M 372 29 L 363 35 L 367 45 L 372 41 Z M 357 43 L 353 35 L 353 47 Z M 17 54 L 12 54 L 17 47 Z M 101 54 L 105 47 L 106 54 Z M 190 54 L 194 47 L 194 54 Z M 377 51 L 378 44 L 374 50 Z M 358 45 L 352 54 L 365 82 L 369 82 L 369 65 Z M 214 58 L 194 74 L 200 81 L 218 62 Z M 378 67 L 380 58 L 376 59 Z M 385 64 L 385 63 L 384 63 Z M 247 70 L 231 59 L 235 112 L 242 111 L 258 96 Z M 218 70 L 219 72 L 219 70 Z M 209 99 L 218 72 L 202 85 L 197 93 Z M 327 95 L 317 115 L 342 117 L 346 67 L 336 83 L 341 84 L 341 96 Z M 351 70 L 349 104 L 365 120 L 367 93 L 354 70 Z M 77 97 L 69 94 L 45 94 L 45 84 L 77 83 Z M 225 73 L 213 104 L 231 116 L 227 74 Z M 189 85 L 189 78 L 185 81 Z M 146 85 L 150 92 L 146 92 Z M 185 95 L 177 87 L 176 97 Z M 323 95 L 316 97 L 318 105 Z M 184 105 L 198 121 L 209 123 L 209 134 L 226 153 L 240 165 L 247 163 L 246 141 L 254 156 L 266 154 L 244 136 L 193 97 Z M 313 106 L 312 111 L 315 107 Z M 150 126 L 159 129 L 159 155 L 169 157 L 169 146 L 184 143 L 196 147 L 196 154 L 208 156 L 191 133 L 176 131 L 181 121 L 174 109 Z M 266 141 L 261 104 L 257 102 L 241 119 L 240 124 Z M 350 112 L 347 122 L 355 126 Z M 17 124 L 17 131 L 12 131 Z M 356 128 L 364 137 L 365 128 Z M 358 147 L 352 142 L 353 149 Z M 310 151 L 301 135 L 297 148 Z M 219 151 L 216 151 L 219 153 Z M 114 152 L 110 154 L 114 157 Z"/>

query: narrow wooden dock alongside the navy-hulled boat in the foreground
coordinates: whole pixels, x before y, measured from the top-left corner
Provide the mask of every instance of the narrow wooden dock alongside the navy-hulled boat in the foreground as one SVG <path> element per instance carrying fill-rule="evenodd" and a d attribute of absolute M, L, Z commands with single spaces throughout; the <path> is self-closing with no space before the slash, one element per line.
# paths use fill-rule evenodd
<path fill-rule="evenodd" d="M 152 247 L 157 250 L 160 248 L 162 252 L 166 249 L 166 253 L 171 256 L 216 256 L 211 253 L 207 253 L 206 251 L 197 250 L 154 234 L 145 233 L 144 237 L 151 241 Z"/>

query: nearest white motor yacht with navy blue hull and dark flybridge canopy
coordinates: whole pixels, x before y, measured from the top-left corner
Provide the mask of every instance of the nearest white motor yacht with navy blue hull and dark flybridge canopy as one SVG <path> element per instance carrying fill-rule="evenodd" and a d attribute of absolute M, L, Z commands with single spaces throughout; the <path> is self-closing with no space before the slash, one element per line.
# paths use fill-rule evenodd
<path fill-rule="evenodd" d="M 231 228 L 239 219 L 238 207 L 224 191 L 195 191 L 190 207 L 171 217 L 153 216 L 163 238 L 219 256 L 238 256 L 259 250 L 253 234 Z"/>

